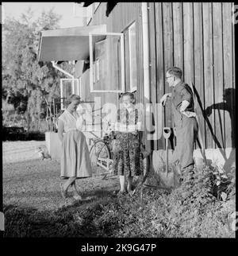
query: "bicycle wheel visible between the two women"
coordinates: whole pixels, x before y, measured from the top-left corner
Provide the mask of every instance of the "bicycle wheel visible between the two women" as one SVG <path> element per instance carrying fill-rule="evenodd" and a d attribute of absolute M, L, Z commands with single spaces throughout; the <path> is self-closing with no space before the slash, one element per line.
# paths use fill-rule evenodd
<path fill-rule="evenodd" d="M 90 148 L 90 159 L 92 163 L 92 169 L 93 173 L 96 174 L 102 174 L 102 173 L 108 173 L 108 170 L 106 169 L 106 161 L 102 162 L 102 166 L 98 165 L 98 158 L 109 160 L 111 159 L 111 153 L 109 151 L 108 145 L 103 140 L 98 140 L 94 142 L 94 145 Z"/>

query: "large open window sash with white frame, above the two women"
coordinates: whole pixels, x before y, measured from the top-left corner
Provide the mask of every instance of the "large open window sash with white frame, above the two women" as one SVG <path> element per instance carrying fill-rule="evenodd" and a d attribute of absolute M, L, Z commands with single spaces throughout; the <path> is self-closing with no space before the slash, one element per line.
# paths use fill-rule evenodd
<path fill-rule="evenodd" d="M 90 92 L 125 92 L 123 33 L 89 35 Z"/>

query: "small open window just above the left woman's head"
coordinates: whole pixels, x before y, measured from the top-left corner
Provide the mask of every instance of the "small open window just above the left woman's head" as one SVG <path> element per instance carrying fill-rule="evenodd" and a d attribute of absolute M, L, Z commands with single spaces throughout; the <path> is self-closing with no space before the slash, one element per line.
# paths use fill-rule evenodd
<path fill-rule="evenodd" d="M 66 108 L 65 99 L 71 94 L 80 95 L 80 87 L 78 79 L 61 78 L 60 79 L 60 98 L 61 110 Z"/>

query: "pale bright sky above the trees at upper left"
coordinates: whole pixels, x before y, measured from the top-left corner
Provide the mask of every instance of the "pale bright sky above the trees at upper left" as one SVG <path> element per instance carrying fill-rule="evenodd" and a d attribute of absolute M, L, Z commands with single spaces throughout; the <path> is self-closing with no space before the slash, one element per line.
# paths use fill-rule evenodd
<path fill-rule="evenodd" d="M 73 2 L 2 2 L 3 16 L 17 19 L 29 7 L 31 7 L 36 17 L 39 17 L 43 10 L 50 10 L 54 7 L 54 12 L 62 15 L 59 21 L 60 28 L 83 25 L 82 18 L 74 17 Z"/>

